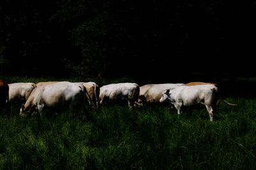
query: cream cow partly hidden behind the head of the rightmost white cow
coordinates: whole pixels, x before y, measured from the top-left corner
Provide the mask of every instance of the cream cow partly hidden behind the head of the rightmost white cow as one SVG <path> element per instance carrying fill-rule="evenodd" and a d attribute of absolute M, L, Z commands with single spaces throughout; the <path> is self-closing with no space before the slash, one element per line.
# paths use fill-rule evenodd
<path fill-rule="evenodd" d="M 147 84 L 140 87 L 139 102 L 137 104 L 141 105 L 143 103 L 159 103 L 159 100 L 166 89 L 174 89 L 184 85 L 183 83 L 165 83 L 165 84 Z"/>

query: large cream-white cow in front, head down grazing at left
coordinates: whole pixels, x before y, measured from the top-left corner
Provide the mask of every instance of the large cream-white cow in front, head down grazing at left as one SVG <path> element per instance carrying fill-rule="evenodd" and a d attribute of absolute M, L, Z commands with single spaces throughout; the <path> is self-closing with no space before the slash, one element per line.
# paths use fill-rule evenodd
<path fill-rule="evenodd" d="M 45 109 L 61 111 L 86 111 L 86 89 L 81 83 L 59 82 L 36 87 L 25 104 L 20 108 L 20 116 L 42 113 Z"/>

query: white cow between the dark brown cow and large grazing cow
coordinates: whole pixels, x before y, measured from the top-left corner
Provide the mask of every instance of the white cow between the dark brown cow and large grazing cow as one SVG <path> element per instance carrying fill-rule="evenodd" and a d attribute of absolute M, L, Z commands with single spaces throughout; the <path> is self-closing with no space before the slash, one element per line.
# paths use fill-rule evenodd
<path fill-rule="evenodd" d="M 35 83 L 10 83 L 9 85 L 9 101 L 10 102 L 26 102 L 29 95 L 35 89 Z"/>

